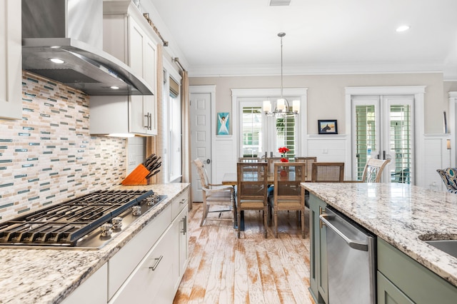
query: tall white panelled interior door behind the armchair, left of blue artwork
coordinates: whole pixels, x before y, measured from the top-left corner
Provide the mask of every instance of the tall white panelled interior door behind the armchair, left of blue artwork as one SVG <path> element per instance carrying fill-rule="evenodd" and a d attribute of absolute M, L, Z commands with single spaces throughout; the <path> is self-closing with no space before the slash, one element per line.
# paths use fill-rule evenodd
<path fill-rule="evenodd" d="M 191 159 L 204 162 L 211 181 L 211 93 L 191 93 Z M 203 201 L 199 174 L 192 167 L 192 201 Z"/>

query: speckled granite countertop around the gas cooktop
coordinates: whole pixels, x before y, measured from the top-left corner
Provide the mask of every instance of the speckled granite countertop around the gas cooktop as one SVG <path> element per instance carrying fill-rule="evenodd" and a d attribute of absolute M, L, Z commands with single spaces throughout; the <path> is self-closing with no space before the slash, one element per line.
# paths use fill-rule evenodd
<path fill-rule="evenodd" d="M 189 183 L 119 186 L 168 197 L 99 250 L 0 248 L 0 303 L 60 303 L 141 231 Z"/>

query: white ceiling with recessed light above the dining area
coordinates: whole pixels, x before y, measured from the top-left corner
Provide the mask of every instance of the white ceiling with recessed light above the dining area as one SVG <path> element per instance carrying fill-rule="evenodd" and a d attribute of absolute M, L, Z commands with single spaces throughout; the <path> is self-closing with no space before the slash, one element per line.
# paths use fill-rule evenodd
<path fill-rule="evenodd" d="M 284 74 L 443 71 L 457 80 L 456 0 L 142 1 L 189 76 L 279 74 L 283 31 Z M 396 32 L 403 24 L 411 29 Z"/>

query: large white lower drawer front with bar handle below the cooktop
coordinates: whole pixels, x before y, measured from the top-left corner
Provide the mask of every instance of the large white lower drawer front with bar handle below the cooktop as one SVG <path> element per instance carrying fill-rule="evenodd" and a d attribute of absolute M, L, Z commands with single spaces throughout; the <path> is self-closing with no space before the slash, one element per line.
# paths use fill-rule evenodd
<path fill-rule="evenodd" d="M 172 303 L 174 298 L 173 230 L 169 228 L 131 273 L 111 304 Z"/>

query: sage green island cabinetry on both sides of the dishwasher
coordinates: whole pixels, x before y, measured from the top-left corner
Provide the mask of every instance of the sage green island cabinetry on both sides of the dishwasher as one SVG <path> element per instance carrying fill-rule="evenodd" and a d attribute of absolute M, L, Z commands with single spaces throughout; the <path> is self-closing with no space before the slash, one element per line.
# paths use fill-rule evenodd
<path fill-rule="evenodd" d="M 327 204 L 313 194 L 309 196 L 310 288 L 316 303 L 328 303 L 326 229 L 319 215 Z M 418 240 L 419 241 L 419 240 Z M 400 250 L 377 238 L 378 304 L 447 304 L 457 303 L 457 287 L 428 270 Z"/>

